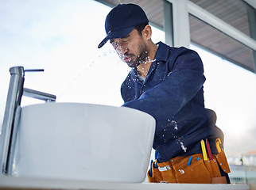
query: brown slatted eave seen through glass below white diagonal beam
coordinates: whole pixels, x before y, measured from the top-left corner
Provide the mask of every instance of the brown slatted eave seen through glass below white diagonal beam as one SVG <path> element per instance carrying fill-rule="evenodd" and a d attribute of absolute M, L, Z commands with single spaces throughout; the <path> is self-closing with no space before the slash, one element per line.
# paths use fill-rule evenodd
<path fill-rule="evenodd" d="M 192 15 L 189 25 L 192 43 L 254 72 L 254 54 L 249 47 Z"/>

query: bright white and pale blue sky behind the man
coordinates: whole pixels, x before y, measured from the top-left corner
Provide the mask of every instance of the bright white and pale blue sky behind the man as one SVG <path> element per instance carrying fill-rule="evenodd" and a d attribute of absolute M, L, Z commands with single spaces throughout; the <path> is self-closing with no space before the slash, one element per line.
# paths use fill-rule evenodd
<path fill-rule="evenodd" d="M 92 0 L 0 1 L 0 124 L 10 67 L 45 69 L 25 74 L 25 88 L 55 94 L 57 102 L 122 105 L 120 86 L 130 70 L 108 43 L 104 21 L 111 8 Z M 153 41 L 164 41 L 153 28 Z M 229 157 L 256 147 L 255 74 L 192 46 L 204 62 L 205 105 L 215 110 Z M 23 97 L 22 106 L 43 103 Z"/>

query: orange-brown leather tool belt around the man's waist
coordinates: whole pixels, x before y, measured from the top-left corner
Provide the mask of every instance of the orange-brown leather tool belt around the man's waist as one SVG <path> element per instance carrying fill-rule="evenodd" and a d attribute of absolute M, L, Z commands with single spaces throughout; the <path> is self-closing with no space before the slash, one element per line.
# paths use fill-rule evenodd
<path fill-rule="evenodd" d="M 222 177 L 219 169 L 224 173 L 231 172 L 224 151 L 212 154 L 212 157 L 211 160 L 204 160 L 203 154 L 193 154 L 167 162 L 153 161 L 151 175 L 147 173 L 149 183 L 227 184 L 226 177 Z"/>

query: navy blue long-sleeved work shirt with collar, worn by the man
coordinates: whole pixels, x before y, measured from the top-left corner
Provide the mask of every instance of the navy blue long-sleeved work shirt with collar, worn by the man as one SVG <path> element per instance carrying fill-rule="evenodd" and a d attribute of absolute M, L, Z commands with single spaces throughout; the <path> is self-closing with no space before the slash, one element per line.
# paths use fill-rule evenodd
<path fill-rule="evenodd" d="M 156 120 L 153 149 L 159 161 L 202 153 L 200 140 L 208 139 L 217 154 L 215 112 L 204 108 L 204 67 L 196 51 L 158 43 L 155 59 L 142 82 L 136 68 L 121 86 L 123 106 L 147 112 Z"/>

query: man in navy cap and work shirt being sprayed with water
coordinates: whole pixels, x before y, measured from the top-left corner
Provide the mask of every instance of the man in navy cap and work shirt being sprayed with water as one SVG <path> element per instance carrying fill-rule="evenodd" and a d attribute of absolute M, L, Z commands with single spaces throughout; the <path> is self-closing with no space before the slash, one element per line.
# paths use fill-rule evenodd
<path fill-rule="evenodd" d="M 156 120 L 157 160 L 150 165 L 149 182 L 230 183 L 223 133 L 215 126 L 215 112 L 204 108 L 200 56 L 185 47 L 153 44 L 148 23 L 140 6 L 114 7 L 99 48 L 110 40 L 120 59 L 132 68 L 121 86 L 123 106 Z"/>

